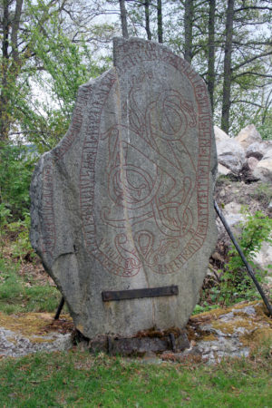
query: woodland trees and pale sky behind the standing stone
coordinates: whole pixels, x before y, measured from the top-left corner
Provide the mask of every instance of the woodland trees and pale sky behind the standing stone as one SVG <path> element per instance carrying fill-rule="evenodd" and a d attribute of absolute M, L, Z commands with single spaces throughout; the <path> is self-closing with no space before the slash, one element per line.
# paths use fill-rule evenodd
<path fill-rule="evenodd" d="M 78 87 L 111 67 L 113 36 L 168 45 L 207 83 L 215 124 L 272 139 L 271 11 L 271 0 L 1 0 L 0 267 L 6 253 L 34 259 L 34 163 L 63 138 Z"/>

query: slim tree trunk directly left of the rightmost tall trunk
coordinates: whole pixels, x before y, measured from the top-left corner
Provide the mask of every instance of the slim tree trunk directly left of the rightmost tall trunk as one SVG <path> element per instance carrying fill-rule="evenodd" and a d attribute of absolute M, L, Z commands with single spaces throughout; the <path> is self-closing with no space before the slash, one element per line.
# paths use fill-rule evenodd
<path fill-rule="evenodd" d="M 209 37 L 208 37 L 208 75 L 207 84 L 211 111 L 214 111 L 214 85 L 215 85 L 215 43 L 214 43 L 214 25 L 215 25 L 216 0 L 209 0 Z"/>

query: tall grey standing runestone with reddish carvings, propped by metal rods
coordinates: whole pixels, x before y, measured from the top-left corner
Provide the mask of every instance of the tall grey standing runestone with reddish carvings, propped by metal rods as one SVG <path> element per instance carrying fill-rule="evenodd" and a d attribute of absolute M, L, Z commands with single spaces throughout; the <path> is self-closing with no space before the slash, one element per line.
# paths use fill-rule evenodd
<path fill-rule="evenodd" d="M 160 44 L 117 38 L 113 57 L 80 88 L 31 186 L 32 244 L 91 339 L 182 328 L 217 238 L 205 84 Z M 105 290 L 170 285 L 178 296 L 102 302 Z"/>

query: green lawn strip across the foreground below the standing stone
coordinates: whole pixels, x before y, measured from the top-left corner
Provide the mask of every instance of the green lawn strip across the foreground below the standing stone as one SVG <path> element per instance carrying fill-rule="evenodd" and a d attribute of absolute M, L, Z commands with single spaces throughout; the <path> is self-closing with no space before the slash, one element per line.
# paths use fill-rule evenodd
<path fill-rule="evenodd" d="M 27 408 L 269 407 L 272 370 L 264 361 L 158 365 L 74 350 L 36 354 L 0 362 L 0 403 Z"/>

